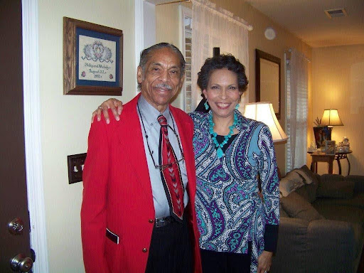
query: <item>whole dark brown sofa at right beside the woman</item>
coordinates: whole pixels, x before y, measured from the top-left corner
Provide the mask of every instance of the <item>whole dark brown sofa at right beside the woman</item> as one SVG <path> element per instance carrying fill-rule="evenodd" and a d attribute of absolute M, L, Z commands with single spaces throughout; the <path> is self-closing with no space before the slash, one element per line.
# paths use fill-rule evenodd
<path fill-rule="evenodd" d="M 270 272 L 357 272 L 364 245 L 364 176 L 297 168 L 279 182 L 280 223 Z"/>

